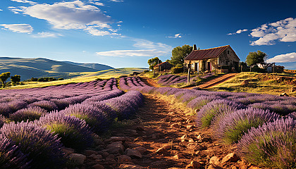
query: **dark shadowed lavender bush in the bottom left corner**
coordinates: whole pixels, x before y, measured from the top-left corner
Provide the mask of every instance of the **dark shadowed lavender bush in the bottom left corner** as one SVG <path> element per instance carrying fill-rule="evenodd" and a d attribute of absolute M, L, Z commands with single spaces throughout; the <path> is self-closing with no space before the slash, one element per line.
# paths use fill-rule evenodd
<path fill-rule="evenodd" d="M 26 156 L 11 139 L 0 134 L 0 166 L 2 169 L 28 168 L 27 165 L 30 162 L 27 161 Z"/>

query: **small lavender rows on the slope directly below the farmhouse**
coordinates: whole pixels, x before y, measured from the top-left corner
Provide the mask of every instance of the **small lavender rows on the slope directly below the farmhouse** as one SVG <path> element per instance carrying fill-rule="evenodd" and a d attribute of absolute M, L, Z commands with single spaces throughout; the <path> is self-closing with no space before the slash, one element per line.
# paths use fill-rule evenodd
<path fill-rule="evenodd" d="M 212 77 L 214 73 L 208 73 L 207 75 L 201 76 L 200 78 L 206 79 L 209 77 Z M 197 76 L 193 77 L 193 79 L 196 79 Z M 163 85 L 163 86 L 171 86 L 173 84 L 180 84 L 180 83 L 186 83 L 187 82 L 187 76 L 180 76 L 180 75 L 160 75 L 157 77 L 159 80 L 157 83 Z"/>

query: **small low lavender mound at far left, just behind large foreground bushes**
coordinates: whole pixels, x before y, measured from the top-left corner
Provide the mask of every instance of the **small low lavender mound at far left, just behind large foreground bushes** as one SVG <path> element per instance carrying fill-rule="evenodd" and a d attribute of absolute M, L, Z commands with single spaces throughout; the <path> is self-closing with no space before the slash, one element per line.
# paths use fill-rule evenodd
<path fill-rule="evenodd" d="M 45 115 L 47 113 L 46 110 L 40 107 L 28 107 L 23 108 L 16 113 L 12 113 L 9 115 L 9 119 L 13 120 L 15 122 L 21 122 L 21 121 L 34 121 L 39 119 L 42 115 Z"/>

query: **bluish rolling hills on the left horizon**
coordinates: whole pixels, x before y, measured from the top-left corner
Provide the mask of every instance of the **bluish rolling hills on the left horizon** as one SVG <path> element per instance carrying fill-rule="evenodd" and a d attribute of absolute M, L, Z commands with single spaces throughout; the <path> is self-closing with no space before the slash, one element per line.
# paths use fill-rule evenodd
<path fill-rule="evenodd" d="M 109 66 L 104 66 L 109 69 Z M 101 69 L 106 67 L 102 66 Z M 31 77 L 70 78 L 83 75 L 84 72 L 97 72 L 101 69 L 88 68 L 82 65 L 54 61 L 47 58 L 0 57 L 0 73 L 11 72 L 11 75 L 20 75 L 21 80 L 27 80 Z"/>

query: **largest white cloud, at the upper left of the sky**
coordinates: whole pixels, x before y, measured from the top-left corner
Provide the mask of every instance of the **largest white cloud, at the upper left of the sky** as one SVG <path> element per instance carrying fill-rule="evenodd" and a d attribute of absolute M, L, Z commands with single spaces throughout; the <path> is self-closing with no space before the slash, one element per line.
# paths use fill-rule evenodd
<path fill-rule="evenodd" d="M 93 3 L 99 3 L 93 1 Z M 101 5 L 101 4 L 97 4 Z M 47 20 L 52 27 L 62 30 L 85 30 L 94 36 L 119 35 L 111 27 L 111 16 L 97 6 L 85 4 L 80 0 L 57 2 L 55 4 L 35 4 L 29 7 L 8 7 L 14 13 L 30 15 Z"/>

